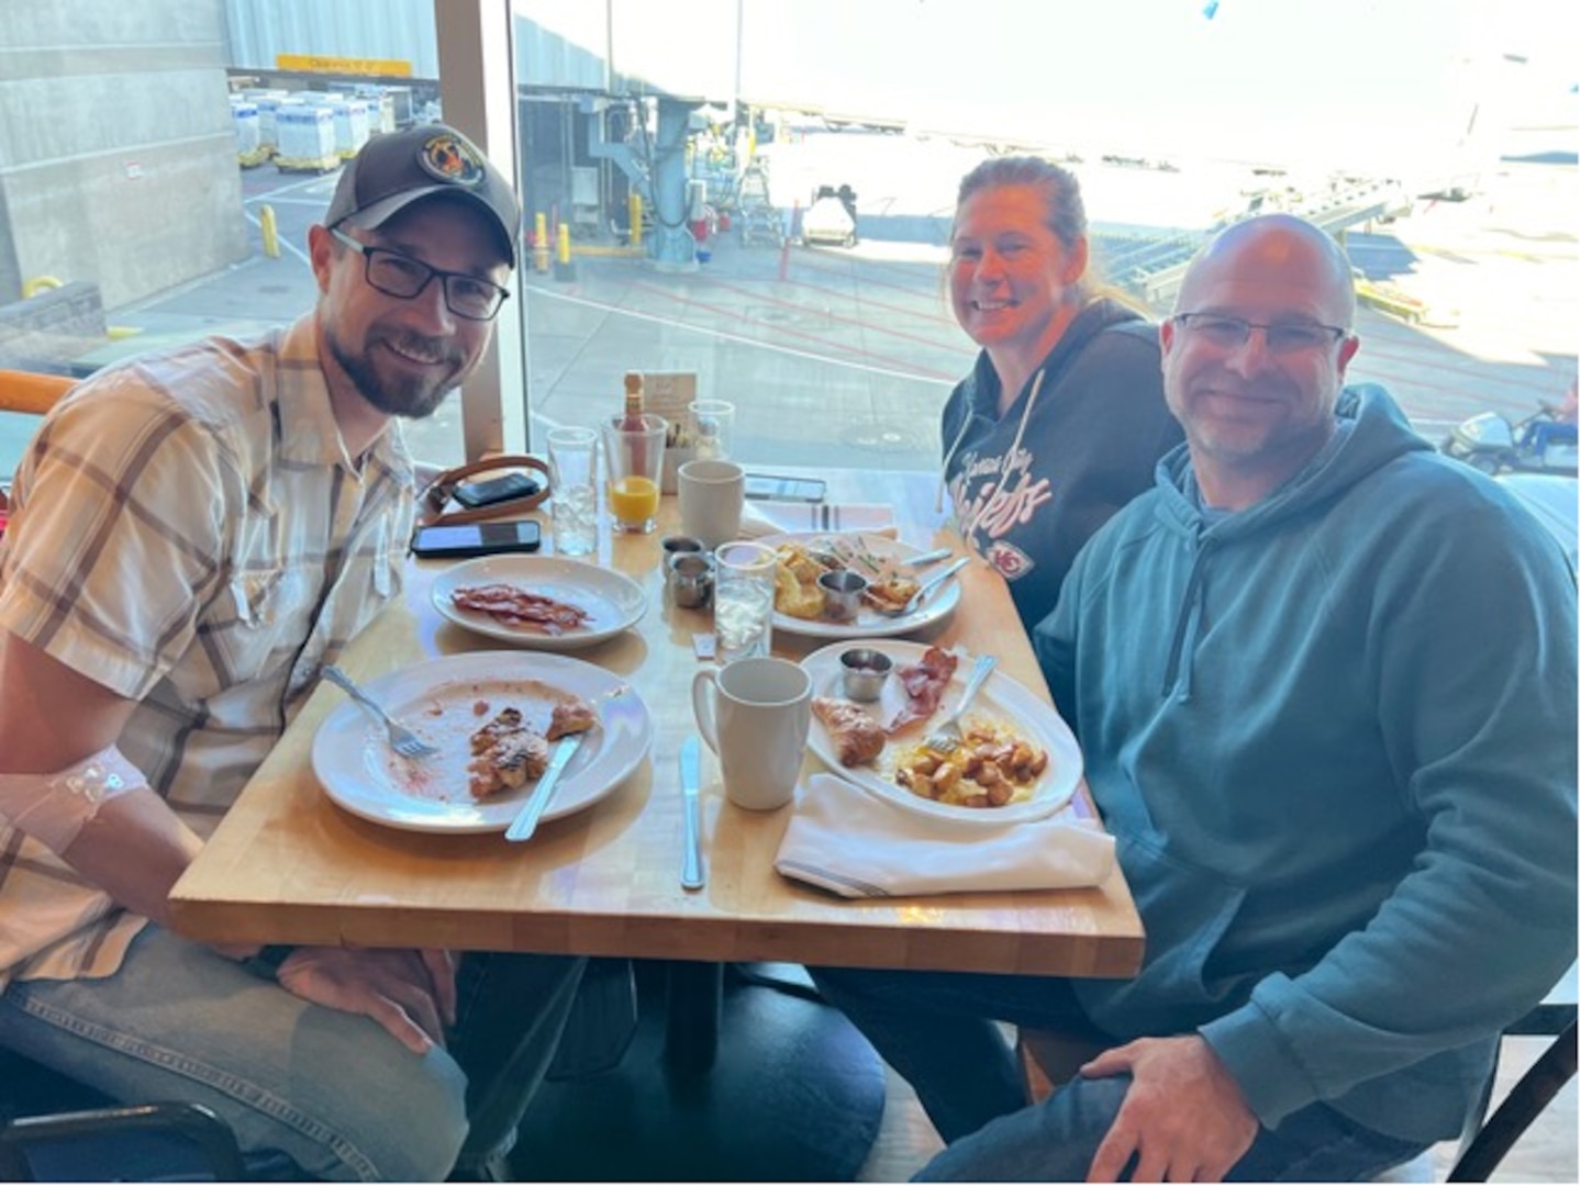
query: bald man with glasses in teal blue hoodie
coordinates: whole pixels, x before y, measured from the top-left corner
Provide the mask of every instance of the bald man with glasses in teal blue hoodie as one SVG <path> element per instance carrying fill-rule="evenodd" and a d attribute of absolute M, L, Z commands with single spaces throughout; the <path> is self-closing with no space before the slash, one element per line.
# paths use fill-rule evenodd
<path fill-rule="evenodd" d="M 1575 959 L 1575 573 L 1344 388 L 1353 313 L 1301 220 L 1198 254 L 1160 330 L 1186 445 L 1034 633 L 1140 974 L 817 973 L 952 1142 L 925 1178 L 1374 1177 L 1461 1132 Z M 1108 1049 L 1026 1107 L 987 1019 Z"/>

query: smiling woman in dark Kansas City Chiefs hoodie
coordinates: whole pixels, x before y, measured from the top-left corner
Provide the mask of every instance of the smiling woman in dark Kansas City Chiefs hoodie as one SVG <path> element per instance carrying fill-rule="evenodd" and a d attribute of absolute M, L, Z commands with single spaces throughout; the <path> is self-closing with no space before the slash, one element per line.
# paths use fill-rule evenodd
<path fill-rule="evenodd" d="M 1157 330 L 1099 294 L 1077 178 L 1039 158 L 993 158 L 961 180 L 949 280 L 982 354 L 944 407 L 944 482 L 1032 627 L 1088 535 L 1179 441 Z"/>

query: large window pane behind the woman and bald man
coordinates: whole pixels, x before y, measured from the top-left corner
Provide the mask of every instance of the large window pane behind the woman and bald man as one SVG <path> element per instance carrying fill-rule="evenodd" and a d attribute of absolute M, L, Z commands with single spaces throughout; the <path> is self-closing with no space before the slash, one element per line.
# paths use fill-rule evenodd
<path fill-rule="evenodd" d="M 612 414 L 626 370 L 683 371 L 740 406 L 749 463 L 934 469 L 977 357 L 944 291 L 955 188 L 1007 152 L 1069 164 L 1097 272 L 1153 316 L 1225 220 L 1330 226 L 1368 281 L 1350 377 L 1434 439 L 1568 382 L 1573 19 L 1551 6 L 515 13 L 528 221 L 571 246 L 520 284 L 538 422 Z"/>

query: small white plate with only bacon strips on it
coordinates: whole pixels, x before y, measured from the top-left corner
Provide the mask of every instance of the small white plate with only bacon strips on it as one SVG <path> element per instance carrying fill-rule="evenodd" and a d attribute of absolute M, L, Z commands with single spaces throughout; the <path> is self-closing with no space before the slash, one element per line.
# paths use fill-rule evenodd
<path fill-rule="evenodd" d="M 648 611 L 629 576 L 553 556 L 479 556 L 433 580 L 433 608 L 460 627 L 538 651 L 593 646 Z"/>

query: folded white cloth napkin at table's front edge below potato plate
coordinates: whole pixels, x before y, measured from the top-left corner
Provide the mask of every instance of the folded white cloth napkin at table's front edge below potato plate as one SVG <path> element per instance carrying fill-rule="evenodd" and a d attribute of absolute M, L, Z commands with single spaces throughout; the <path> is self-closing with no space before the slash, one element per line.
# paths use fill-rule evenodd
<path fill-rule="evenodd" d="M 832 774 L 797 788 L 775 869 L 841 897 L 1096 886 L 1115 840 L 1096 821 L 957 823 L 907 812 Z"/>

